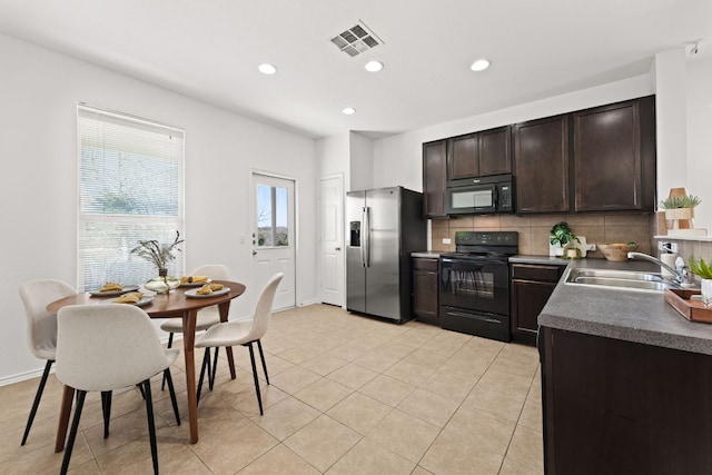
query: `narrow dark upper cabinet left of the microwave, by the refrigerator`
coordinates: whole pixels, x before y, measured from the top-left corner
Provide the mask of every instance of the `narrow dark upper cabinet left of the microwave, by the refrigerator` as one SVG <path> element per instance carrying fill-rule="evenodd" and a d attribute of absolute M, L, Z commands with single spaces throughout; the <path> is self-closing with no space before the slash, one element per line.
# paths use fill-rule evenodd
<path fill-rule="evenodd" d="M 447 140 L 423 144 L 423 210 L 426 218 L 447 217 Z"/>

